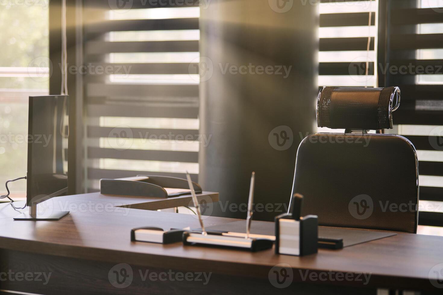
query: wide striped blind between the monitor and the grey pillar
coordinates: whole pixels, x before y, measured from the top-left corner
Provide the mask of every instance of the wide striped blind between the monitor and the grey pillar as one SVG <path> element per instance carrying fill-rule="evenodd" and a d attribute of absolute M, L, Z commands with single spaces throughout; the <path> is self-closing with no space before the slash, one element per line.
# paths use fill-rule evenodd
<path fill-rule="evenodd" d="M 137 174 L 197 180 L 199 8 L 117 1 L 84 1 L 88 191 Z"/>

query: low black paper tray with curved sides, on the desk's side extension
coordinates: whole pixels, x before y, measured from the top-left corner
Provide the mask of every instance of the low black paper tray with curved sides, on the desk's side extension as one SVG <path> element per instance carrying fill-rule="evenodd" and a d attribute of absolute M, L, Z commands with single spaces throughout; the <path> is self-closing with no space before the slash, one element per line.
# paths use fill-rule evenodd
<path fill-rule="evenodd" d="M 202 193 L 199 184 L 193 182 L 196 193 Z M 169 192 L 167 192 L 169 190 Z M 135 197 L 170 198 L 190 194 L 186 179 L 155 175 L 101 179 L 100 192 L 104 195 L 128 195 Z"/>

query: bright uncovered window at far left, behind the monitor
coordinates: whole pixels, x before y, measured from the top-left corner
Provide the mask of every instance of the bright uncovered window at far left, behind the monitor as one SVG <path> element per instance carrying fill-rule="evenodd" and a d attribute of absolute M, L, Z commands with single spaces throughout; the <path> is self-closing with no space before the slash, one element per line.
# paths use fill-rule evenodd
<path fill-rule="evenodd" d="M 28 96 L 49 93 L 48 1 L 0 3 L 0 194 L 6 180 L 26 176 Z M 10 184 L 26 197 L 26 181 Z"/>

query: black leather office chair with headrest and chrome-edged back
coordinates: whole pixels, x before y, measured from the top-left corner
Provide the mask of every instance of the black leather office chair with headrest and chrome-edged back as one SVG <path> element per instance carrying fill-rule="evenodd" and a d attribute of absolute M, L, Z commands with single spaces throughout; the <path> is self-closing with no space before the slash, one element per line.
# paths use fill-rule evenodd
<path fill-rule="evenodd" d="M 395 105 L 394 105 L 395 102 Z M 416 233 L 418 161 L 408 139 L 367 130 L 392 128 L 399 88 L 323 87 L 319 127 L 344 134 L 307 136 L 297 151 L 292 195 L 319 225 Z"/>

